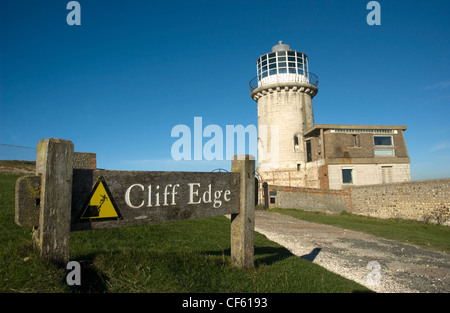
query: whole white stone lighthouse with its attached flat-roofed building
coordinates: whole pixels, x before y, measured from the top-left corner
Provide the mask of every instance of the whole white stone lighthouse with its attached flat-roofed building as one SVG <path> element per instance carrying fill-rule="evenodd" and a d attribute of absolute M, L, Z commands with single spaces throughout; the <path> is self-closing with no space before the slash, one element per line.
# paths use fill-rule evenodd
<path fill-rule="evenodd" d="M 257 177 L 259 188 L 271 186 L 271 203 L 280 205 L 276 187 L 338 190 L 410 181 L 405 125 L 314 122 L 319 80 L 308 61 L 280 41 L 256 60 L 250 81 L 258 112 Z"/>

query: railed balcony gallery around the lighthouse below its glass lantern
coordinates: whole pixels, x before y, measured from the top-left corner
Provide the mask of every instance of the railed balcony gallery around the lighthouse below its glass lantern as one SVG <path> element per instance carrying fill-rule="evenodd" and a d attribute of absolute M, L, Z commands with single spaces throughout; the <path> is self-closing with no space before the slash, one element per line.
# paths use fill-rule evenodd
<path fill-rule="evenodd" d="M 264 74 L 266 73 L 258 75 L 250 81 L 249 83 L 250 91 L 253 91 L 256 88 L 262 86 L 279 83 L 303 83 L 314 85 L 316 87 L 319 84 L 319 78 L 315 74 L 310 72 L 305 72 L 303 74 L 296 74 L 296 73 L 276 73 L 276 74 L 269 73 L 268 75 Z"/>

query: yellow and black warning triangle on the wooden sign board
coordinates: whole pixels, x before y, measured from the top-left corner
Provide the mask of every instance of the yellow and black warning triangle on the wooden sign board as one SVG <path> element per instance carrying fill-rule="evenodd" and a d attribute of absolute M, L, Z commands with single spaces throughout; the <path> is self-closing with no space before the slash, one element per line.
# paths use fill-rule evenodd
<path fill-rule="evenodd" d="M 80 220 L 104 221 L 121 218 L 108 186 L 104 178 L 100 176 L 81 210 Z"/>

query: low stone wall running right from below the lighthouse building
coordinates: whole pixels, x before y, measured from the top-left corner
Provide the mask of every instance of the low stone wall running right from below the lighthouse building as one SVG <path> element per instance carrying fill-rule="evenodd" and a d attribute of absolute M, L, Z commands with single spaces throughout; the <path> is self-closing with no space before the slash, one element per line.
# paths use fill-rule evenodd
<path fill-rule="evenodd" d="M 344 190 L 269 186 L 271 207 L 429 221 L 450 226 L 450 178 Z"/>

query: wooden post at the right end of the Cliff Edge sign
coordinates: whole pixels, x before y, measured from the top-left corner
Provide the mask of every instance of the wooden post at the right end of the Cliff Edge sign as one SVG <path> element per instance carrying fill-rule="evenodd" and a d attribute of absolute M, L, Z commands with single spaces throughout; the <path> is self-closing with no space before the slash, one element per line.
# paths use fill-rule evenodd
<path fill-rule="evenodd" d="M 239 213 L 231 214 L 231 261 L 248 269 L 254 266 L 255 160 L 249 155 L 234 156 L 231 170 L 240 173 Z"/>

